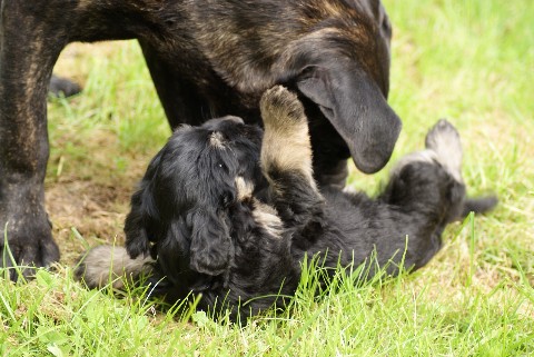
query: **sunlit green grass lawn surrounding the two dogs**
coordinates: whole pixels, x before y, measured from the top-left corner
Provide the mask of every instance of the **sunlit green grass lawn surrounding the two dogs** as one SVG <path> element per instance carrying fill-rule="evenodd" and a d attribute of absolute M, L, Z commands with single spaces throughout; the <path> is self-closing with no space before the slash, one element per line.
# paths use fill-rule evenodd
<path fill-rule="evenodd" d="M 86 90 L 49 106 L 47 187 L 72 206 L 102 187 L 123 195 L 98 196 L 96 204 L 111 202 L 103 214 L 83 206 L 91 221 L 115 220 L 108 230 L 50 204 L 63 259 L 29 284 L 0 280 L 1 355 L 533 355 L 534 2 L 385 6 L 395 32 L 389 102 L 404 122 L 392 163 L 422 148 L 427 128 L 447 117 L 462 135 L 468 192 L 496 192 L 495 211 L 452 225 L 443 250 L 414 275 L 364 286 L 342 276 L 318 298 L 315 275 L 305 275 L 290 314 L 270 313 L 245 328 L 202 313 L 184 320 L 156 311 L 139 291 L 88 291 L 72 280 L 73 257 L 86 241 L 122 239 L 128 196 L 169 129 L 135 42 L 73 47 L 58 69 Z M 374 192 L 386 175 L 354 171 L 350 185 Z M 97 184 L 61 191 L 79 182 Z"/>

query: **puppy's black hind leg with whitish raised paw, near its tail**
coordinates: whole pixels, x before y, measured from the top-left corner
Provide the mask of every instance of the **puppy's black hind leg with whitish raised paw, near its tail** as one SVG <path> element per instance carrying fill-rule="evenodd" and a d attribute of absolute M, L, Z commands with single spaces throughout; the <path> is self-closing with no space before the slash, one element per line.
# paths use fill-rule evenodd
<path fill-rule="evenodd" d="M 445 226 L 465 209 L 462 145 L 456 129 L 439 120 L 426 149 L 402 158 L 379 200 L 399 212 L 396 225 L 408 234 L 409 266 L 424 266 L 441 248 Z"/>

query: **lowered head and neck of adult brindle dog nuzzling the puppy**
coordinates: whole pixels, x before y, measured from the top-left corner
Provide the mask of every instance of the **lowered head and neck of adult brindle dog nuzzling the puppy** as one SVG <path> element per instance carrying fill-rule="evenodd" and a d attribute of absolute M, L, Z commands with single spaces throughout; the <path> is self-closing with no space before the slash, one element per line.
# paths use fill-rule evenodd
<path fill-rule="evenodd" d="M 350 155 L 368 173 L 386 165 L 400 120 L 386 102 L 392 27 L 379 0 L 214 3 L 195 2 L 199 41 L 231 88 L 256 99 L 274 85 L 297 90 L 320 159 Z"/>

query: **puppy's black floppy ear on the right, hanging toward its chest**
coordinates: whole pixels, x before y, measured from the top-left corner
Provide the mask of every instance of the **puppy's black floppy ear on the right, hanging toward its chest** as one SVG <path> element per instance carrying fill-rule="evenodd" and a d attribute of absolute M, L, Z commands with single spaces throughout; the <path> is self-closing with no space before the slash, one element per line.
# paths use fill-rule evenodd
<path fill-rule="evenodd" d="M 207 275 L 225 271 L 230 260 L 231 240 L 225 211 L 198 208 L 192 212 L 191 269 Z"/>

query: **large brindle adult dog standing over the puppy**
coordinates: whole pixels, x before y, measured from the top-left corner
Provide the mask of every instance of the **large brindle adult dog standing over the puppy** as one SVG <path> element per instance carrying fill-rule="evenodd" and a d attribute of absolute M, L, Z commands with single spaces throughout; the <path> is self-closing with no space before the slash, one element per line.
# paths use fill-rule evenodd
<path fill-rule="evenodd" d="M 267 88 L 296 90 L 320 185 L 344 185 L 350 156 L 364 172 L 383 168 L 400 130 L 379 0 L 0 1 L 0 234 L 17 264 L 59 259 L 43 206 L 46 97 L 69 42 L 137 39 L 172 128 L 228 113 L 260 122 Z"/>

